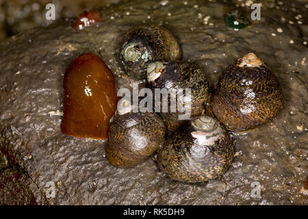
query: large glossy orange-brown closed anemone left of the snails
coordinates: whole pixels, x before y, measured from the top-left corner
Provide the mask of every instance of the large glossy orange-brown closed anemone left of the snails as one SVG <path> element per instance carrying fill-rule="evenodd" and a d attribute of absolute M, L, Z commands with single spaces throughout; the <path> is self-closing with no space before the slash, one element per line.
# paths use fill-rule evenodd
<path fill-rule="evenodd" d="M 62 133 L 76 138 L 107 138 L 117 102 L 111 70 L 97 55 L 79 55 L 64 75 Z"/>

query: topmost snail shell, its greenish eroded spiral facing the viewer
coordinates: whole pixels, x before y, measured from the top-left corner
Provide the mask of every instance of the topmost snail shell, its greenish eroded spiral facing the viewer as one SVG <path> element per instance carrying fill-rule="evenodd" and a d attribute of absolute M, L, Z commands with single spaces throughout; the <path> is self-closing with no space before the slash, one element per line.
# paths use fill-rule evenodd
<path fill-rule="evenodd" d="M 146 78 L 146 67 L 157 60 L 179 60 L 177 39 L 164 27 L 140 26 L 129 31 L 121 47 L 120 61 L 127 75 Z"/>

